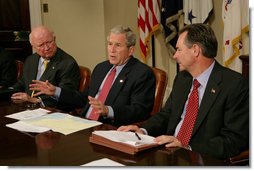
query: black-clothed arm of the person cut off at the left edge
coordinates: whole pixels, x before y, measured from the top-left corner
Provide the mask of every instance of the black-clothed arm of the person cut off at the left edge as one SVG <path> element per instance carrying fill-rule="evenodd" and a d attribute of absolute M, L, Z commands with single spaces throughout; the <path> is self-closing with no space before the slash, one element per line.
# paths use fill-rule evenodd
<path fill-rule="evenodd" d="M 14 55 L 0 47 L 0 86 L 9 87 L 17 82 L 17 67 Z"/>

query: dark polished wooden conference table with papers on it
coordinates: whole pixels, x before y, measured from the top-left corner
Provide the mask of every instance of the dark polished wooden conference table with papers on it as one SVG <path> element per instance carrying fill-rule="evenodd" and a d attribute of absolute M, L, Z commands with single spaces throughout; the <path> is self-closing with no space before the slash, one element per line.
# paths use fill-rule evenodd
<path fill-rule="evenodd" d="M 58 132 L 27 133 L 6 127 L 17 120 L 8 114 L 27 110 L 27 103 L 0 101 L 0 165 L 2 166 L 81 166 L 107 158 L 126 166 L 225 166 L 227 163 L 207 155 L 159 146 L 135 155 L 92 144 L 94 130 L 116 129 L 102 124 L 69 135 Z"/>

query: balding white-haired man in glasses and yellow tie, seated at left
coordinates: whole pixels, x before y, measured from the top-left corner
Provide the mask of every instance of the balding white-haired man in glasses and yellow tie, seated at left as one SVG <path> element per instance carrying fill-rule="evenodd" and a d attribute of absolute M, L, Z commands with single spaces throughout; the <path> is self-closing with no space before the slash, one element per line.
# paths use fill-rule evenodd
<path fill-rule="evenodd" d="M 72 56 L 57 47 L 53 32 L 45 26 L 34 28 L 29 38 L 36 53 L 27 57 L 21 79 L 12 86 L 21 92 L 14 93 L 11 98 L 55 107 L 56 99 L 46 95 L 35 98 L 34 91 L 29 90 L 29 84 L 35 79 L 49 80 L 61 88 L 77 90 L 80 81 L 79 66 Z"/>

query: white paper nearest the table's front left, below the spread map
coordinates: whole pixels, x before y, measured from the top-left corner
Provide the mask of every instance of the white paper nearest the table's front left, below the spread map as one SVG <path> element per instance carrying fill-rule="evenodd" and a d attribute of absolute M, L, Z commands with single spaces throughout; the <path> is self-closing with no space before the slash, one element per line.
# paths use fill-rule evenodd
<path fill-rule="evenodd" d="M 6 125 L 9 128 L 16 129 L 23 132 L 33 132 L 33 133 L 42 133 L 49 131 L 50 128 L 41 127 L 41 126 L 34 126 L 28 123 L 25 123 L 23 121 L 18 121 L 15 123 L 7 124 Z"/>

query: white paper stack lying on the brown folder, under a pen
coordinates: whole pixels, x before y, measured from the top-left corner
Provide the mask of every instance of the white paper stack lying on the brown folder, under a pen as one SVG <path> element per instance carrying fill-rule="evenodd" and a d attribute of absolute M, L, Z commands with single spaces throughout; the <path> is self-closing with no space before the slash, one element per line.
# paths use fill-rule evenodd
<path fill-rule="evenodd" d="M 141 140 L 135 135 L 134 132 L 122 132 L 122 131 L 94 131 L 93 134 L 102 136 L 111 141 L 122 142 L 132 146 L 139 146 L 143 144 L 154 144 L 154 137 L 149 135 L 138 134 Z"/>

